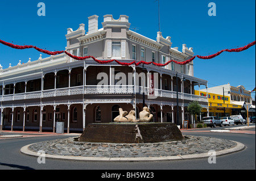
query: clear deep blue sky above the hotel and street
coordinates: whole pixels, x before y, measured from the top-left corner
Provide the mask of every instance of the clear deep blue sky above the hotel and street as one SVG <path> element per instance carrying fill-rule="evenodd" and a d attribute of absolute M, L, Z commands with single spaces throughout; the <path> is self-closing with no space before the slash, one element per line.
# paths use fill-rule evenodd
<path fill-rule="evenodd" d="M 38 16 L 39 2 L 46 5 L 46 16 Z M 216 16 L 209 16 L 209 2 L 216 4 Z M 131 30 L 156 40 L 158 32 L 158 2 L 129 1 L 1 1 L 0 39 L 18 45 L 35 45 L 47 50 L 65 50 L 67 28 L 77 30 L 88 17 L 98 15 L 98 28 L 103 16 L 129 16 Z M 193 47 L 195 55 L 207 56 L 222 49 L 243 47 L 255 40 L 255 0 L 160 0 L 160 30 L 171 36 L 172 47 L 182 44 Z M 35 49 L 17 50 L 0 44 L 0 64 L 3 69 L 15 66 L 19 60 L 37 60 Z M 47 57 L 43 54 L 43 57 Z M 93 56 L 93 55 L 92 55 Z M 224 52 L 210 60 L 194 60 L 194 76 L 206 79 L 209 87 L 230 83 L 255 87 L 255 45 L 240 53 Z M 204 87 L 205 88 L 205 87 Z M 253 94 L 254 97 L 255 94 Z"/>

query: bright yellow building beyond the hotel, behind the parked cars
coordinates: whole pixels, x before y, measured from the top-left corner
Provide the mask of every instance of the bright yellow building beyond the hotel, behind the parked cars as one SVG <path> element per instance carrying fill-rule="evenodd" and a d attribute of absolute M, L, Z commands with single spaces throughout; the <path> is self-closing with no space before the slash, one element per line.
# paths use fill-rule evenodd
<path fill-rule="evenodd" d="M 201 95 L 207 97 L 207 92 L 195 90 L 195 95 Z M 225 99 L 225 103 L 224 103 Z M 208 93 L 208 104 L 209 104 L 209 116 L 224 116 L 232 115 L 233 109 L 242 109 L 241 105 L 230 103 L 230 96 L 224 96 L 220 94 Z M 208 116 L 207 108 L 202 109 L 202 116 Z"/>

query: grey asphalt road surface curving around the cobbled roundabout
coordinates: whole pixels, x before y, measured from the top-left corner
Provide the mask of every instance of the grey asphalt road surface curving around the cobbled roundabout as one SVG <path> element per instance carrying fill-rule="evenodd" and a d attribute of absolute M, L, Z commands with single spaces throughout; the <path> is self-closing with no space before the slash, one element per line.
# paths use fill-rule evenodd
<path fill-rule="evenodd" d="M 200 130 L 208 131 L 210 129 L 220 128 L 203 128 Z M 250 129 L 250 131 L 255 131 L 255 128 Z M 98 172 L 100 175 L 101 172 L 105 173 L 105 170 L 255 170 L 255 134 L 196 131 L 184 132 L 183 134 L 212 136 L 238 141 L 244 144 L 246 149 L 238 153 L 217 157 L 216 163 L 212 164 L 208 163 L 208 159 L 160 162 L 85 162 L 49 158 L 46 158 L 46 163 L 39 164 L 38 157 L 22 154 L 20 148 L 35 142 L 55 140 L 67 136 L 11 138 L 0 139 L 0 170 L 101 170 Z"/>

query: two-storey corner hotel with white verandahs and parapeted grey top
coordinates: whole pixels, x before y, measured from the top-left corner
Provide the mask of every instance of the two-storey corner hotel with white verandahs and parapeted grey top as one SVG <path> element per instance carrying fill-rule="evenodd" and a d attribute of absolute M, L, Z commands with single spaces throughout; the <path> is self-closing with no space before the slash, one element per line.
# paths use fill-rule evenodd
<path fill-rule="evenodd" d="M 73 31 L 68 28 L 67 52 L 75 56 L 93 56 L 98 60 L 116 59 L 120 62 L 154 61 L 164 64 L 170 60 L 185 61 L 193 57 L 193 49 L 183 44 L 181 51 L 172 48 L 171 37 L 157 33 L 156 40 L 129 30 L 129 17 L 121 15 L 113 19 L 105 15 L 102 28 L 98 29 L 98 16 L 89 18 L 88 32 L 85 24 Z M 4 129 L 23 131 L 35 129 L 55 131 L 57 121 L 64 122 L 66 132 L 83 131 L 89 123 L 109 123 L 125 111 L 143 108 L 141 79 L 126 86 L 117 86 L 117 73 L 157 73 L 156 99 L 148 99 L 146 87 L 145 104 L 154 114 L 154 121 L 176 123 L 176 90 L 178 91 L 179 117 L 190 120 L 186 111 L 189 102 L 196 100 L 207 108 L 207 98 L 194 95 L 194 86 L 207 87 L 207 81 L 193 76 L 193 61 L 187 65 L 172 62 L 165 67 L 155 65 L 122 66 L 113 61 L 98 64 L 92 58 L 77 61 L 65 53 L 28 61 L 25 64 L 2 69 L 0 65 L 1 124 Z M 109 77 L 108 85 L 98 87 L 98 73 Z M 176 76 L 178 83 L 176 85 Z M 184 80 L 184 81 L 183 81 Z M 148 81 L 148 79 L 146 79 Z M 129 82 L 127 80 L 127 82 Z M 134 86 L 138 85 L 138 86 Z"/>

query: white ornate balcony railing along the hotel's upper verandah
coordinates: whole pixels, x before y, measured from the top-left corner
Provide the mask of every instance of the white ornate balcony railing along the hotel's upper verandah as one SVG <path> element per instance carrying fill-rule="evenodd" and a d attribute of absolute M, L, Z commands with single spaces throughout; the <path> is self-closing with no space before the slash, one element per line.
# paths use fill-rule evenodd
<path fill-rule="evenodd" d="M 83 94 L 90 94 L 90 95 L 102 95 L 102 94 L 122 94 L 122 95 L 129 95 L 134 94 L 143 94 L 148 95 L 148 87 L 141 87 L 141 86 L 85 86 L 83 91 L 83 86 L 76 86 L 76 87 L 66 87 L 61 89 L 51 89 L 51 90 L 43 90 L 43 91 L 35 91 L 35 92 L 24 92 L 20 94 L 11 94 L 11 95 L 0 95 L 0 100 L 3 102 L 6 101 L 15 101 L 15 100 L 24 100 L 24 99 L 38 99 L 38 98 L 51 98 L 55 96 L 68 96 L 68 95 L 81 95 Z M 154 89 L 154 96 L 155 97 L 163 97 L 163 98 L 176 98 L 177 94 L 176 91 L 169 91 L 169 90 L 160 90 Z M 179 99 L 185 100 L 196 100 L 200 102 L 207 102 L 207 98 L 204 96 L 193 95 L 193 94 L 186 94 L 182 92 L 178 92 Z"/>

